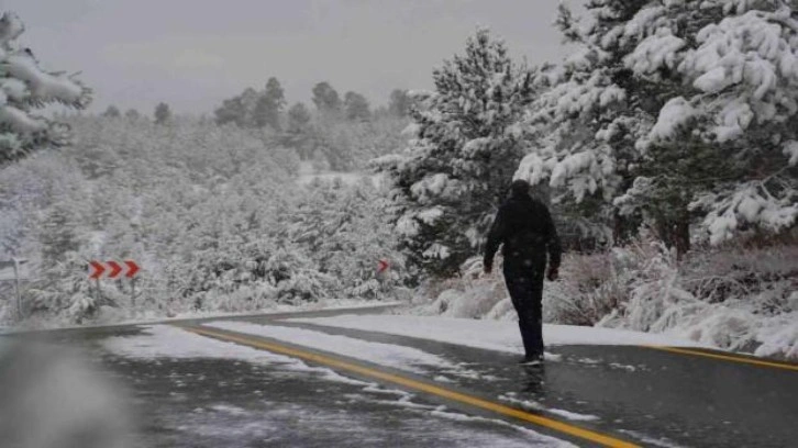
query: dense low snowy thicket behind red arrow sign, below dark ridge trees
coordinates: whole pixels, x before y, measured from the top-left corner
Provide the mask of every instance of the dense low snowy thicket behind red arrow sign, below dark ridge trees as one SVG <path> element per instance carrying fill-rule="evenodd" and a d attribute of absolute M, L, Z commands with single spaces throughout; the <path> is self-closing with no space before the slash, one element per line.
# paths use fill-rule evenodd
<path fill-rule="evenodd" d="M 299 157 L 269 134 L 192 119 L 66 123 L 73 145 L 0 175 L 3 250 L 38 273 L 26 288 L 30 316 L 374 299 L 377 260 L 400 260 L 370 178 L 300 187 Z M 137 303 L 122 281 L 103 281 L 98 296 L 92 259 L 137 260 Z"/>

